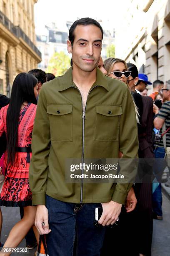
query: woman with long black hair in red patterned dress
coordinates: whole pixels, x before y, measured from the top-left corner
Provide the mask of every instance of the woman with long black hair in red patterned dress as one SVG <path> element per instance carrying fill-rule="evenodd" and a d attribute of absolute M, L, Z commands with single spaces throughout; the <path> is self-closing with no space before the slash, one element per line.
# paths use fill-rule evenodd
<path fill-rule="evenodd" d="M 37 89 L 37 79 L 32 74 L 18 74 L 13 82 L 10 104 L 0 110 L 0 136 L 5 131 L 7 137 L 0 205 L 24 207 L 24 217 L 10 231 L 4 247 L 18 246 L 35 221 L 36 209 L 31 206 L 28 178 Z M 35 235 L 38 240 L 37 230 Z"/>

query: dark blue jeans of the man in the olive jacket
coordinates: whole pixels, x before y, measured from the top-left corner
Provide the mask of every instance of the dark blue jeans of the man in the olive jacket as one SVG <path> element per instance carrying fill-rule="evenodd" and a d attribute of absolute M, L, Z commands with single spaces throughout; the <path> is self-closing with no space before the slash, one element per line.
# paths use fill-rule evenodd
<path fill-rule="evenodd" d="M 46 236 L 49 256 L 72 256 L 76 235 L 77 256 L 100 256 L 105 227 L 94 225 L 95 207 L 100 203 L 67 203 L 46 195 L 46 207 L 52 230 Z"/>

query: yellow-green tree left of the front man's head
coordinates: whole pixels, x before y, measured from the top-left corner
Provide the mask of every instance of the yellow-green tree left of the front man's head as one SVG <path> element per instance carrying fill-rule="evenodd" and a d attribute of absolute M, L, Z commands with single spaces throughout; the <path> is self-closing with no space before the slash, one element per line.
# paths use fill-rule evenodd
<path fill-rule="evenodd" d="M 55 77 L 61 76 L 67 71 L 67 69 L 69 69 L 69 67 L 69 56 L 66 55 L 64 51 L 55 52 L 48 63 L 47 73 L 52 73 Z"/>

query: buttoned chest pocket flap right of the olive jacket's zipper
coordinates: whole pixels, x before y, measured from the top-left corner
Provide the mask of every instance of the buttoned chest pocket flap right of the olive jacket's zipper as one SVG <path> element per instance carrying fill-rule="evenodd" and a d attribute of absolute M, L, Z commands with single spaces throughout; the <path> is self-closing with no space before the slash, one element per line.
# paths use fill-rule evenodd
<path fill-rule="evenodd" d="M 96 113 L 107 116 L 122 115 L 122 107 L 119 105 L 98 105 L 96 106 Z"/>

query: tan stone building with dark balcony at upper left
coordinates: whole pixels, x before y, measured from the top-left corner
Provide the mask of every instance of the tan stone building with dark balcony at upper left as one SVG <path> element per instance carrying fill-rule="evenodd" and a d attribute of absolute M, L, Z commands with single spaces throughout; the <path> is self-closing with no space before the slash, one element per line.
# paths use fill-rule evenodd
<path fill-rule="evenodd" d="M 34 4 L 37 0 L 0 0 L 0 93 L 10 97 L 15 76 L 36 68 Z"/>

